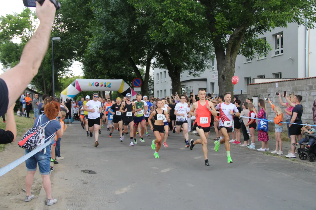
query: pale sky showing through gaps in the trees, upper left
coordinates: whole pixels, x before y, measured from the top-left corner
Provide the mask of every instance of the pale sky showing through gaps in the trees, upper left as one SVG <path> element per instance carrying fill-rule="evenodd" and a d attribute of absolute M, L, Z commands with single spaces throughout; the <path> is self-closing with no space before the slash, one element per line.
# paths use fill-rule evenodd
<path fill-rule="evenodd" d="M 22 0 L 1 0 L 0 16 L 5 16 L 6 14 L 21 13 L 24 8 L 25 7 Z M 74 62 L 70 70 L 72 71 L 72 74 L 74 76 L 83 75 L 80 62 Z M 0 63 L 0 74 L 2 74 L 2 72 L 2 65 Z"/>

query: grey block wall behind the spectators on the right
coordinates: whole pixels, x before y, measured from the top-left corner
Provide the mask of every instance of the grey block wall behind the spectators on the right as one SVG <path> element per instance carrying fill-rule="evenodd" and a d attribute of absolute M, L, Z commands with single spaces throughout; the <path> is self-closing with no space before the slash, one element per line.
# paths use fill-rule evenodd
<path fill-rule="evenodd" d="M 277 83 L 277 88 L 276 88 Z M 312 119 L 312 107 L 313 102 L 316 99 L 316 78 L 305 78 L 305 79 L 298 79 L 298 80 L 290 80 L 290 81 L 280 81 L 280 82 L 271 82 L 271 83 L 261 83 L 261 84 L 251 84 L 247 85 L 247 96 L 249 97 L 256 97 L 258 99 L 269 98 L 271 102 L 276 105 L 280 106 L 284 115 L 283 121 L 285 121 L 285 106 L 281 106 L 279 103 L 279 98 L 275 95 L 275 92 L 283 92 L 286 91 L 287 94 L 297 94 L 303 97 L 301 104 L 304 107 L 303 115 L 302 115 L 302 122 L 303 123 L 311 123 L 313 124 Z M 286 102 L 283 98 L 283 102 Z M 273 120 L 275 114 L 270 106 L 267 104 L 267 112 L 268 112 L 268 119 Z"/>

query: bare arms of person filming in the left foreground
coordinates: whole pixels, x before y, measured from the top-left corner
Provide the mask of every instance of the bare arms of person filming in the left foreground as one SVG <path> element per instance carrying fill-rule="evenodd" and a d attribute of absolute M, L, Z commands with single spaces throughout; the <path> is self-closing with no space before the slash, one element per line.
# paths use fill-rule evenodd
<path fill-rule="evenodd" d="M 36 15 L 40 20 L 40 25 L 25 45 L 20 63 L 0 75 L 0 97 L 3 102 L 0 104 L 0 116 L 5 114 L 8 108 L 15 104 L 16 99 L 21 97 L 25 87 L 27 87 L 33 77 L 37 74 L 48 48 L 55 13 L 56 8 L 51 1 L 44 1 L 42 6 L 40 3 L 36 2 Z M 23 77 L 16 77 L 16 75 L 23 75 Z M 8 113 L 9 111 L 12 112 L 11 110 L 8 110 Z M 16 135 L 15 124 L 12 128 L 8 128 L 7 126 L 5 132 L 7 131 L 12 131 L 12 133 L 15 133 Z M 14 138 L 11 138 L 10 140 L 13 141 Z"/>

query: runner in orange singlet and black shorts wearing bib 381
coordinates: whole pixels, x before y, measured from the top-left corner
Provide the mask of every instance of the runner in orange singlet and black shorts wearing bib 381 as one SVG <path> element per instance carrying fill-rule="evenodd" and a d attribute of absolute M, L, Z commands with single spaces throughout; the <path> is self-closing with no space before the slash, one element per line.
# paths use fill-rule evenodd
<path fill-rule="evenodd" d="M 210 132 L 210 113 L 212 113 L 213 116 L 217 116 L 217 111 L 213 102 L 205 100 L 206 92 L 204 89 L 198 91 L 198 97 L 200 100 L 192 104 L 190 114 L 191 116 L 196 116 L 193 130 L 197 131 L 201 139 L 197 139 L 196 141 L 191 139 L 190 150 L 193 149 L 194 145 L 202 144 L 205 166 L 209 166 L 210 163 L 207 158 L 207 137 Z"/>

